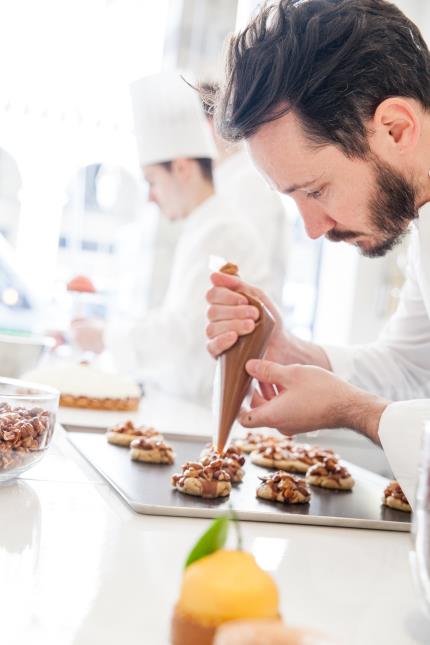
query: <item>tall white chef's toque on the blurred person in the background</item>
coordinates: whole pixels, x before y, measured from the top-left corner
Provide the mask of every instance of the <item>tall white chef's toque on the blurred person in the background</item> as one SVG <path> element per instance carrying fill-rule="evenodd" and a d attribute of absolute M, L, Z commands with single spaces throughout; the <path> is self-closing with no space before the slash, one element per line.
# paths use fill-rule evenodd
<path fill-rule="evenodd" d="M 177 72 L 146 76 L 130 85 L 142 166 L 179 158 L 216 156 L 200 98 Z"/>

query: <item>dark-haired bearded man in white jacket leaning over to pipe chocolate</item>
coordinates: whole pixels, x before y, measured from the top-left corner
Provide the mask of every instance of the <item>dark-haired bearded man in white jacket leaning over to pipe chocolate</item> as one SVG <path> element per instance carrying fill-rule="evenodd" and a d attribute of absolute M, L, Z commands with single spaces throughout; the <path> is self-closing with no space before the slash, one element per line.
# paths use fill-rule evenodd
<path fill-rule="evenodd" d="M 369 346 L 293 337 L 236 277 L 214 274 L 207 295 L 215 357 L 254 329 L 239 292 L 277 320 L 265 360 L 247 364 L 261 385 L 241 423 L 290 435 L 353 428 L 382 444 L 413 504 L 430 420 L 430 216 L 418 214 L 430 201 L 430 54 L 419 30 L 385 0 L 266 5 L 232 38 L 215 116 L 294 198 L 311 238 L 377 257 L 414 229 L 400 305 Z"/>

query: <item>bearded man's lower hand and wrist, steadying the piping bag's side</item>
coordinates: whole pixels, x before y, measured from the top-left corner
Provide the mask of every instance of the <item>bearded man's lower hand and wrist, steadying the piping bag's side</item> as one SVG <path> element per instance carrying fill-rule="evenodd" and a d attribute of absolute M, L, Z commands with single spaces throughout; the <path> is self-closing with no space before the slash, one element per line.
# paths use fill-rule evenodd
<path fill-rule="evenodd" d="M 246 428 L 266 426 L 294 435 L 347 427 L 379 443 L 379 419 L 388 401 L 319 367 L 252 360 L 246 369 L 261 383 L 276 386 L 279 392 L 270 400 L 254 393 L 253 408 L 239 417 Z"/>

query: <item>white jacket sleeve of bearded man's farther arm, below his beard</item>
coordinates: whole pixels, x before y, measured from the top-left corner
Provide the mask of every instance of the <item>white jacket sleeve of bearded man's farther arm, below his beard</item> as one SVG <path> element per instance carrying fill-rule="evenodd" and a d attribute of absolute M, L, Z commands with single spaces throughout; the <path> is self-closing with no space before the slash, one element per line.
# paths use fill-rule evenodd
<path fill-rule="evenodd" d="M 324 347 L 341 378 L 390 400 L 430 397 L 430 319 L 418 280 L 418 245 L 396 313 L 369 345 Z"/>

